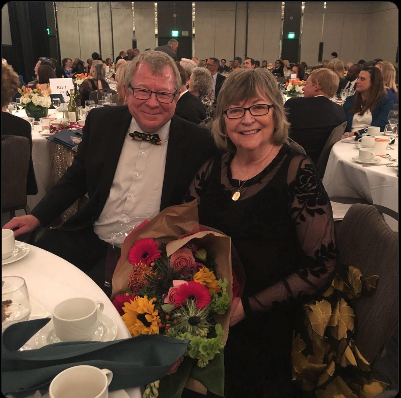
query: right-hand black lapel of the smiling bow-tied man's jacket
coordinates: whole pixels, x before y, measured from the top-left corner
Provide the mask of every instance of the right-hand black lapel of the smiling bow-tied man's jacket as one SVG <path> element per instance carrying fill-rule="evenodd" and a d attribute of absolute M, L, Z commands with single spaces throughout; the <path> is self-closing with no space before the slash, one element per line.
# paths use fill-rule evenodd
<path fill-rule="evenodd" d="M 184 154 L 188 145 L 188 134 L 182 129 L 178 116 L 171 119 L 170 132 L 168 134 L 166 168 L 162 188 L 160 210 L 170 206 L 171 196 L 176 184 Z"/>

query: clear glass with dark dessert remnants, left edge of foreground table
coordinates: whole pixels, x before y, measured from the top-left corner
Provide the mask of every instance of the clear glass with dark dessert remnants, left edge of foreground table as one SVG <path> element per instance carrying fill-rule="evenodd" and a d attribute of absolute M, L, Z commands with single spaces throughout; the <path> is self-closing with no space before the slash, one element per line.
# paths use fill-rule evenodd
<path fill-rule="evenodd" d="M 25 279 L 16 276 L 2 277 L 1 288 L 2 331 L 12 323 L 26 321 L 29 318 L 31 307 Z M 5 306 L 5 307 L 3 307 Z"/>

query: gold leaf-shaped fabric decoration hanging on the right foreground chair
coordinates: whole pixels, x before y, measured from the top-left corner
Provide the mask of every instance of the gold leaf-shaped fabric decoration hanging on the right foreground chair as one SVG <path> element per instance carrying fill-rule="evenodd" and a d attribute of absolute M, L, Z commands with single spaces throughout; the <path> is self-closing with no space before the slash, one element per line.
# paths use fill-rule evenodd
<path fill-rule="evenodd" d="M 355 313 L 348 301 L 371 296 L 378 275 L 364 278 L 346 267 L 322 294 L 322 301 L 304 305 L 306 330 L 293 333 L 292 379 L 310 397 L 373 398 L 388 384 L 371 376 L 371 365 L 359 352 L 352 335 Z"/>

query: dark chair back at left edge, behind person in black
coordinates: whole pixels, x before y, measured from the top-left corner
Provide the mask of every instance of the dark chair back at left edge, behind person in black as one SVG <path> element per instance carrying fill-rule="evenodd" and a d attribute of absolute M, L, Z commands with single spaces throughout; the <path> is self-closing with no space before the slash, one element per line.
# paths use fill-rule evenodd
<path fill-rule="evenodd" d="M 26 181 L 29 168 L 29 140 L 19 135 L 2 135 L 1 143 L 1 211 L 15 217 L 16 210 L 27 206 Z"/>

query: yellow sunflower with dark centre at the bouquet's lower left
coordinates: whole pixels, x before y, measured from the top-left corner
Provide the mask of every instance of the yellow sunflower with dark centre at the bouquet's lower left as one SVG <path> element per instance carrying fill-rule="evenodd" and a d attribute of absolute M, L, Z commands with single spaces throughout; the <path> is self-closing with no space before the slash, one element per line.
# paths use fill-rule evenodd
<path fill-rule="evenodd" d="M 159 311 L 155 311 L 153 299 L 136 296 L 130 303 L 124 303 L 122 319 L 131 335 L 159 334 Z"/>

